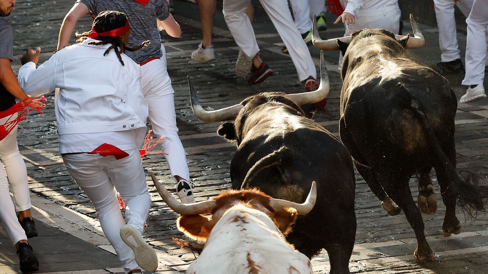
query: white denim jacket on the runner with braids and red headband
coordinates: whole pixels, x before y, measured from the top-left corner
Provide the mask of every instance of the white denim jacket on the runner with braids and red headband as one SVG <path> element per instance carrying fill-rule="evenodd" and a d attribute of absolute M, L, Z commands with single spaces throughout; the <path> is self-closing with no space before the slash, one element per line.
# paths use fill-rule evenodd
<path fill-rule="evenodd" d="M 37 69 L 34 62 L 19 70 L 22 90 L 32 96 L 60 88 L 55 98 L 58 134 L 99 133 L 146 126 L 141 67 L 125 54 L 122 66 L 111 46 L 89 45 L 87 39 L 53 55 Z"/>

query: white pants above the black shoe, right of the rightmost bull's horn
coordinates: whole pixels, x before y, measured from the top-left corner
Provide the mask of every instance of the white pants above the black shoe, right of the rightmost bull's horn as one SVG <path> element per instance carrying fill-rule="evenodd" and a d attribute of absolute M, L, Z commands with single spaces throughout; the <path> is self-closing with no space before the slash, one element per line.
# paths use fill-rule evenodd
<path fill-rule="evenodd" d="M 474 0 L 463 0 L 456 5 L 468 17 Z M 439 47 L 441 61 L 450 62 L 460 59 L 458 41 L 456 36 L 456 20 L 454 19 L 453 0 L 434 0 L 435 18 L 439 29 Z M 488 39 L 488 36 L 487 36 Z"/>

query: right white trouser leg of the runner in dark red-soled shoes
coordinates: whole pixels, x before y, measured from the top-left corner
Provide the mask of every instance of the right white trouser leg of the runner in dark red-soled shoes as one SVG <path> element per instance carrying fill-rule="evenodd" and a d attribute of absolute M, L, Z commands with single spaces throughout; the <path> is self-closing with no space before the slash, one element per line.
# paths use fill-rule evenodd
<path fill-rule="evenodd" d="M 297 70 L 298 79 L 303 81 L 310 76 L 317 78 L 312 57 L 293 23 L 286 0 L 260 0 L 260 2 L 288 49 Z"/>

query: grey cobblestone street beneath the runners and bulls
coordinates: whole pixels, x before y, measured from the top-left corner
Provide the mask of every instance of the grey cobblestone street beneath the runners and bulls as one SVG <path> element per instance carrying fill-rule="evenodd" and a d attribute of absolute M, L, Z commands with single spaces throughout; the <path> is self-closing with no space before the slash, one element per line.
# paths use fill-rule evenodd
<path fill-rule="evenodd" d="M 40 46 L 41 62 L 48 59 L 56 49 L 61 21 L 71 8 L 72 0 L 19 0 L 15 10 L 8 18 L 14 29 L 14 55 L 12 63 L 17 72 L 20 68 L 20 56 L 26 48 Z M 253 1 L 254 3 L 254 1 Z M 204 123 L 192 113 L 186 77 L 190 76 L 200 103 L 207 110 L 218 109 L 235 104 L 247 96 L 264 91 L 285 91 L 299 93 L 304 87 L 298 82 L 295 67 L 288 55 L 281 53 L 284 45 L 276 30 L 272 27 L 261 5 L 256 2 L 254 29 L 261 48 L 261 56 L 275 74 L 264 83 L 255 86 L 247 85 L 247 78 L 236 78 L 235 61 L 238 47 L 225 26 L 222 16 L 222 3 L 214 26 L 214 48 L 216 59 L 206 63 L 190 59 L 191 52 L 201 41 L 200 16 L 195 3 L 174 0 L 174 17 L 181 25 L 182 38 L 174 39 L 162 35 L 166 49 L 168 72 L 175 90 L 175 106 L 180 137 L 186 151 L 191 180 L 197 201 L 218 195 L 230 187 L 229 166 L 235 152 L 235 144 L 226 142 L 217 136 L 216 130 L 221 123 Z M 220 11 L 219 11 L 220 8 Z M 344 34 L 342 24 L 333 25 L 333 14 L 328 14 L 329 29 L 321 32 L 323 39 L 340 37 Z M 83 17 L 75 30 L 85 31 L 91 28 L 91 18 Z M 420 29 L 426 38 L 426 45 L 410 53 L 421 64 L 432 66 L 440 61 L 438 31 L 436 28 L 422 24 Z M 406 29 L 411 33 L 409 23 Z M 464 62 L 466 49 L 466 24 L 460 26 L 458 40 Z M 464 31 L 463 31 L 464 28 Z M 162 32 L 163 34 L 164 32 Z M 74 43 L 75 37 L 72 38 Z M 319 67 L 319 50 L 310 47 L 315 65 Z M 339 97 L 342 82 L 337 69 L 338 51 L 325 53 L 327 70 L 330 79 L 330 93 L 327 106 L 314 115 L 314 120 L 331 133 L 338 136 Z M 109 72 L 107 77 L 110 77 Z M 462 78 L 449 79 L 458 99 L 466 87 L 460 86 Z M 488 81 L 485 80 L 485 88 Z M 96 259 L 83 259 L 72 264 L 60 264 L 60 268 L 49 267 L 49 253 L 44 252 L 42 243 L 35 243 L 35 252 L 42 254 L 46 267 L 39 273 L 72 273 L 72 274 L 105 274 L 121 273 L 113 249 L 103 236 L 96 219 L 95 210 L 90 199 L 81 192 L 78 185 L 69 176 L 58 152 L 58 136 L 55 134 L 56 118 L 54 116 L 54 94 L 46 96 L 47 106 L 43 115 L 32 114 L 22 121 L 19 127 L 19 148 L 26 162 L 29 175 L 29 188 L 34 205 L 35 218 L 39 220 L 40 242 L 71 241 L 72 244 L 86 245 L 86 252 L 98 252 Z M 481 177 L 479 184 L 488 185 L 488 99 L 475 103 L 458 104 L 456 115 L 456 152 L 457 169 L 473 172 Z M 161 152 L 154 150 L 154 152 Z M 195 255 L 191 251 L 180 249 L 172 237 L 184 238 L 176 228 L 177 214 L 171 211 L 156 192 L 149 173 L 154 172 L 163 181 L 167 189 L 175 193 L 175 183 L 171 178 L 168 166 L 162 155 L 149 155 L 143 159 L 149 190 L 152 196 L 151 211 L 145 239 L 160 252 L 158 273 L 184 273 Z M 431 175 L 433 180 L 435 174 Z M 446 208 L 442 203 L 438 184 L 434 184 L 438 194 L 437 214 L 423 215 L 425 233 L 436 259 L 425 264 L 413 260 L 416 238 L 413 230 L 402 212 L 396 216 L 387 215 L 380 207 L 381 202 L 369 190 L 365 181 L 356 172 L 356 245 L 351 257 L 351 273 L 368 274 L 462 274 L 488 273 L 488 216 L 480 214 L 478 219 L 467 220 L 463 211 L 457 207 L 457 216 L 463 227 L 459 235 L 448 238 L 443 236 L 442 222 Z M 416 200 L 418 188 L 416 179 L 410 180 L 412 195 Z M 176 196 L 175 196 L 176 197 Z M 60 231 L 56 231 L 59 229 Z M 4 235 L 4 234 L 3 234 Z M 51 238 L 50 238 L 51 237 Z M 10 242 L 2 236 L 0 230 L 0 273 L 20 273 L 15 261 L 15 250 L 6 248 Z M 62 240 L 64 239 L 64 240 Z M 79 241 L 79 243 L 78 243 Z M 98 247 L 98 248 L 97 248 Z M 44 248 L 45 249 L 45 248 Z M 9 253 L 10 252 L 10 253 Z M 67 249 L 66 253 L 77 253 Z M 325 256 L 326 252 L 323 251 Z M 4 256 L 13 256 L 10 260 Z M 76 256 L 81 256 L 77 254 Z M 93 255 L 95 256 L 95 255 Z M 102 257 L 102 256 L 107 256 Z M 69 256 L 60 256 L 59 261 Z M 81 262 L 78 262 L 81 261 Z M 16 262 L 16 261 L 15 261 Z M 62 265 L 62 267 L 61 267 Z M 93 265 L 93 267 L 91 267 Z M 90 267 L 88 267 L 90 266 Z M 314 273 L 329 273 L 328 260 L 312 259 Z M 89 269 L 88 269 L 89 268 Z"/>

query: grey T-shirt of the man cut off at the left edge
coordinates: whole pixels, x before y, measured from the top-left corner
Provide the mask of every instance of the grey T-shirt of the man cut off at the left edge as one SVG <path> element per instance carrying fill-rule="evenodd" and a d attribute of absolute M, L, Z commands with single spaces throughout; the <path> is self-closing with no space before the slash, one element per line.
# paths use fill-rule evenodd
<path fill-rule="evenodd" d="M 0 17 L 0 58 L 14 60 L 12 26 L 3 17 Z M 13 105 L 15 105 L 15 97 L 0 83 L 0 111 L 9 109 Z"/>

